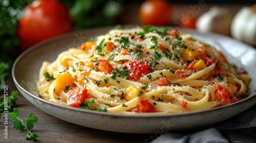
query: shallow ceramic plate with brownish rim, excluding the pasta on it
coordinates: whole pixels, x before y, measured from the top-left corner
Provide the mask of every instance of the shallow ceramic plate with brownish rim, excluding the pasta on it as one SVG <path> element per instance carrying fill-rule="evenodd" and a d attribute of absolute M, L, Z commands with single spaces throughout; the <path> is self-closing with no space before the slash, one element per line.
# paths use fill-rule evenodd
<path fill-rule="evenodd" d="M 92 36 L 105 34 L 110 29 L 110 27 L 105 27 L 70 33 L 33 46 L 21 54 L 13 65 L 12 76 L 18 90 L 34 106 L 61 120 L 85 127 L 124 133 L 165 133 L 169 130 L 195 129 L 226 120 L 256 104 L 256 50 L 226 36 L 200 33 L 194 30 L 181 31 L 216 46 L 226 55 L 229 62 L 236 63 L 238 67 L 243 67 L 248 71 L 252 78 L 248 98 L 227 106 L 203 111 L 168 115 L 121 115 L 72 108 L 38 97 L 36 79 L 43 61 L 52 62 L 60 52 L 69 47 L 78 46 Z"/>

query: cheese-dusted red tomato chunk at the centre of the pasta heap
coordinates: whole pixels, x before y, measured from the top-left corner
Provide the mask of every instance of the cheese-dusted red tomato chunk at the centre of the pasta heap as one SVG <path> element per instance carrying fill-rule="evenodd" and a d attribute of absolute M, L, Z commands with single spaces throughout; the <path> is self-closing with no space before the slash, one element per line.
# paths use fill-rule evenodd
<path fill-rule="evenodd" d="M 146 61 L 130 61 L 126 62 L 122 65 L 122 67 L 127 67 L 129 74 L 127 75 L 127 78 L 129 78 L 132 81 L 138 81 L 143 75 L 150 74 L 150 69 L 152 66 L 150 63 Z"/>

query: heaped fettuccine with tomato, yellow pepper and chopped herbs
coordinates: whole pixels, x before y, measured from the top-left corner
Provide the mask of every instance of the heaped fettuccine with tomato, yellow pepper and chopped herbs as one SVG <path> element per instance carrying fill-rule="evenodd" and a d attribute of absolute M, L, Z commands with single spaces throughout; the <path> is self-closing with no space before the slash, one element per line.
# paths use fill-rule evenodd
<path fill-rule="evenodd" d="M 37 88 L 50 102 L 111 113 L 179 113 L 246 97 L 250 77 L 177 29 L 111 30 L 45 61 Z"/>

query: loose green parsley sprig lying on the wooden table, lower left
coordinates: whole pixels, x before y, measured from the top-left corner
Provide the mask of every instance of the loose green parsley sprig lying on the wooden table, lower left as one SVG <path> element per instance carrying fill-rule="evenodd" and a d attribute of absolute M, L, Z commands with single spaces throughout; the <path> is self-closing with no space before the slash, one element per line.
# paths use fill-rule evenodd
<path fill-rule="evenodd" d="M 18 109 L 14 109 L 14 111 L 9 114 L 9 117 L 11 117 L 14 120 L 13 128 L 20 131 L 24 131 L 25 129 L 28 130 L 28 134 L 26 135 L 25 139 L 37 141 L 36 137 L 38 137 L 38 135 L 32 133 L 30 130 L 33 129 L 34 123 L 38 121 L 38 117 L 35 116 L 33 113 L 30 113 L 29 117 L 24 120 L 22 118 L 19 118 L 18 115 Z"/>

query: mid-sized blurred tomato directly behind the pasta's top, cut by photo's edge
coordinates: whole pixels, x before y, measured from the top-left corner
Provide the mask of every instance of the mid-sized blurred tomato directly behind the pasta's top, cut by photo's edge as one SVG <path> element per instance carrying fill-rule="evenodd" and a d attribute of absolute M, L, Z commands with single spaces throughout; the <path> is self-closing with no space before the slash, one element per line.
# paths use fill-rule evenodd
<path fill-rule="evenodd" d="M 139 9 L 143 25 L 164 26 L 170 23 L 170 5 L 165 0 L 145 1 Z"/>

